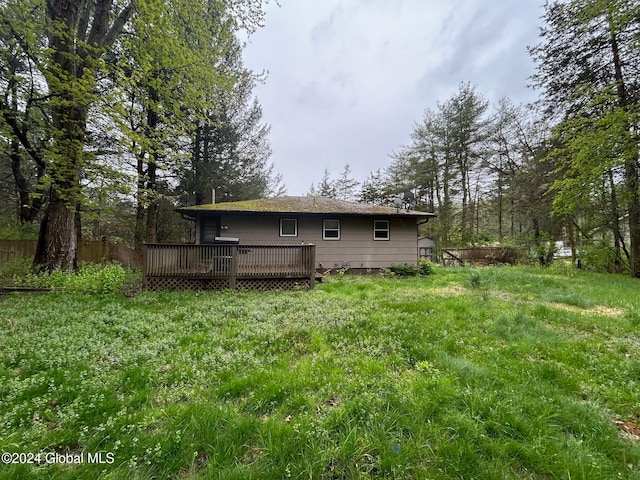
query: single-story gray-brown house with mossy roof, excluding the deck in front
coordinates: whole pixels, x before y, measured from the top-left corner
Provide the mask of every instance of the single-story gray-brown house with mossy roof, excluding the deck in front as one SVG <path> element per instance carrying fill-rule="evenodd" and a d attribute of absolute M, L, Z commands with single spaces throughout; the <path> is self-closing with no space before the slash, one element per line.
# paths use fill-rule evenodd
<path fill-rule="evenodd" d="M 324 197 L 276 197 L 177 209 L 195 243 L 315 245 L 315 269 L 364 272 L 418 261 L 418 226 L 435 214 Z"/>

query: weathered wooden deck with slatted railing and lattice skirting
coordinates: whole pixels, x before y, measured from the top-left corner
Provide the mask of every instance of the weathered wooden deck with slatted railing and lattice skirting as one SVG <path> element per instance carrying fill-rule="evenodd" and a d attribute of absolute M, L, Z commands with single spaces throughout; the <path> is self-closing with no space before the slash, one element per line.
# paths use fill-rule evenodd
<path fill-rule="evenodd" d="M 315 245 L 147 244 L 143 267 L 152 290 L 314 288 L 316 281 Z"/>

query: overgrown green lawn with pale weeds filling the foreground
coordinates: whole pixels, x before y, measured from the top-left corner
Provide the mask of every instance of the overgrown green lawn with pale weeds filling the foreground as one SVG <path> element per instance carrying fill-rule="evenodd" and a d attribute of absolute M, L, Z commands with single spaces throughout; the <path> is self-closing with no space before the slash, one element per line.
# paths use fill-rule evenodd
<path fill-rule="evenodd" d="M 625 277 L 0 298 L 0 478 L 640 479 L 638 425 Z"/>

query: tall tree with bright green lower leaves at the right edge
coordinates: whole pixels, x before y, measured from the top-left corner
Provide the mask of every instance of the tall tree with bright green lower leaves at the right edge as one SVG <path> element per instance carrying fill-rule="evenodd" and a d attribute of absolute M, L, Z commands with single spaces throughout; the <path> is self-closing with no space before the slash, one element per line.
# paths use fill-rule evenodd
<path fill-rule="evenodd" d="M 530 49 L 540 103 L 557 122 L 555 211 L 573 215 L 608 197 L 608 228 L 634 277 L 640 276 L 639 18 L 640 5 L 631 0 L 549 2 L 541 41 Z M 628 250 L 618 207 L 628 217 Z"/>

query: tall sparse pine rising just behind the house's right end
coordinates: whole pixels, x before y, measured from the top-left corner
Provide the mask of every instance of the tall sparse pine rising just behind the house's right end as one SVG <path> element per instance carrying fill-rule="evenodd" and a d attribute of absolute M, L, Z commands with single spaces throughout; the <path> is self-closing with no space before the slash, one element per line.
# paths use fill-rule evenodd
<path fill-rule="evenodd" d="M 414 126 L 411 144 L 395 153 L 387 177 L 397 194 L 412 191 L 435 209 L 440 243 L 468 243 L 477 226 L 477 203 L 490 119 L 488 102 L 470 84 Z M 459 207 L 458 207 L 459 206 Z"/>

